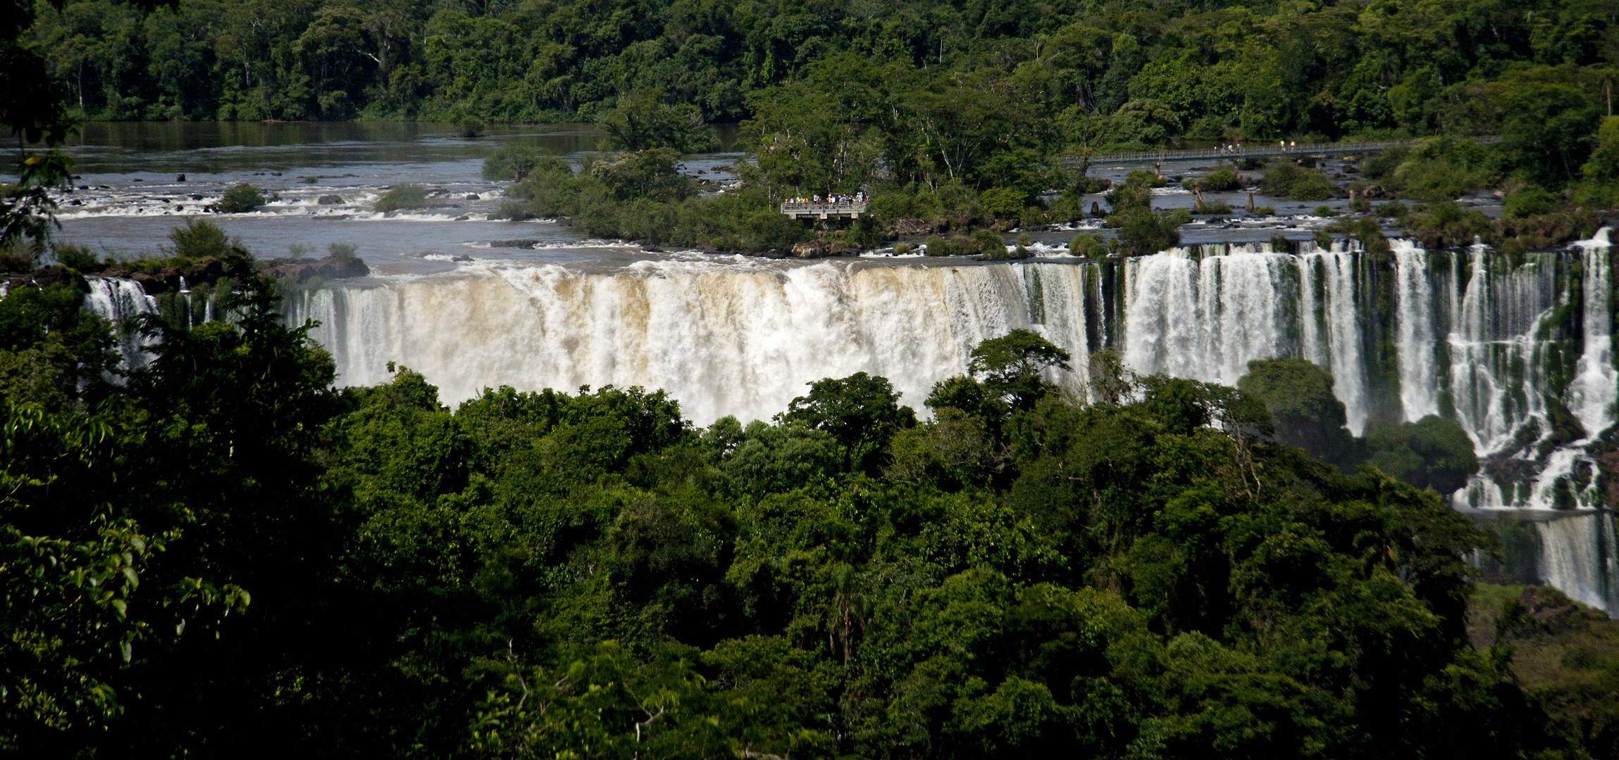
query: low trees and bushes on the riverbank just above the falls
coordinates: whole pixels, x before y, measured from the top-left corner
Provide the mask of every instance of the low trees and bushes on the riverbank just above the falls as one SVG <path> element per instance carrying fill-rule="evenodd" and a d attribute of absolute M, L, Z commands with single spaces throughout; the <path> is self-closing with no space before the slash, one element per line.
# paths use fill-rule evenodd
<path fill-rule="evenodd" d="M 803 108 L 811 105 L 798 103 L 784 108 L 784 113 L 803 118 Z M 669 108 L 643 100 L 617 107 L 602 118 L 643 125 L 669 121 L 657 115 L 659 110 Z M 771 116 L 761 115 L 745 123 L 745 133 L 769 128 L 766 118 Z M 1522 252 L 1590 236 L 1603 218 L 1603 205 L 1619 205 L 1619 196 L 1609 194 L 1611 188 L 1619 188 L 1619 160 L 1613 158 L 1619 155 L 1619 118 L 1600 120 L 1577 181 L 1564 183 L 1562 192 L 1546 189 L 1543 181 L 1549 179 L 1543 171 L 1514 168 L 1512 163 L 1545 157 L 1523 158 L 1523 150 L 1512 142 L 1478 144 L 1441 136 L 1375 154 L 1358 162 L 1360 176 L 1347 181 L 1334 181 L 1326 171 L 1315 168 L 1315 158 L 1308 157 L 1255 162 L 1260 171 L 1247 178 L 1227 168 L 1187 178 L 1183 184 L 1198 197 L 1190 212 L 1153 205 L 1153 188 L 1164 186 L 1166 179 L 1151 171 L 1132 171 L 1124 183 L 1111 186 L 1106 181 L 1075 181 L 1059 163 L 1023 188 L 996 184 L 988 176 L 979 178 L 975 186 L 970 179 L 955 176 L 937 181 L 926 171 L 895 176 L 882 163 L 879 152 L 855 150 L 856 155 L 850 158 L 850 146 L 811 147 L 767 141 L 754 144 L 754 163 L 738 162 L 733 167 L 743 183 L 716 192 L 682 175 L 677 146 L 688 137 L 656 129 L 646 133 L 633 137 L 633 144 L 643 146 L 641 149 L 623 150 L 631 142 L 610 137 L 604 147 L 622 152 L 586 157 L 580 167 L 560 158 L 541 158 L 523 149 L 502 149 L 489 155 L 484 175 L 516 179 L 508 194 L 521 202 L 502 212 L 510 218 L 552 217 L 580 226 L 591 236 L 750 254 L 788 254 L 795 244 L 811 238 L 819 238 L 818 249 L 842 246 L 858 251 L 895 238 L 923 236 L 957 241 L 933 246 L 934 251 L 976 252 L 981 247 L 976 243 L 962 244 L 975 231 L 1035 228 L 1104 213 L 1107 226 L 1117 230 L 1109 252 L 1145 255 L 1174 246 L 1180 239 L 1180 226 L 1192 220 L 1192 213 L 1234 213 L 1221 201 L 1206 202 L 1201 192 L 1240 189 L 1245 181 L 1255 191 L 1290 201 L 1352 197 L 1349 217 L 1337 220 L 1328 231 L 1358 238 L 1375 252 L 1386 252 L 1387 247 L 1379 218 L 1391 220 L 1404 234 L 1428 247 L 1468 244 L 1478 236 L 1504 251 Z M 763 133 L 756 137 L 763 139 Z M 826 155 L 840 155 L 843 160 L 827 163 Z M 850 168 L 847 162 L 861 155 L 871 165 L 865 170 Z M 1514 155 L 1519 158 L 1512 158 Z M 879 165 L 884 171 L 877 171 Z M 1070 186 L 1044 192 L 1030 189 L 1047 183 Z M 776 204 L 784 197 L 808 196 L 818 186 L 845 184 L 865 189 L 871 197 L 869 212 L 853 223 L 818 233 L 805 223 L 774 217 Z M 1499 188 L 1496 194 L 1504 199 L 1501 218 L 1489 218 L 1455 202 L 1489 188 Z M 1107 189 L 1107 209 L 1086 210 L 1083 196 L 1098 189 Z M 1381 205 L 1373 207 L 1373 199 L 1379 199 Z M 1328 210 L 1318 215 L 1334 215 L 1329 207 L 1321 209 Z M 1260 210 L 1255 207 L 1250 213 Z M 1266 207 L 1264 212 L 1273 210 Z"/>

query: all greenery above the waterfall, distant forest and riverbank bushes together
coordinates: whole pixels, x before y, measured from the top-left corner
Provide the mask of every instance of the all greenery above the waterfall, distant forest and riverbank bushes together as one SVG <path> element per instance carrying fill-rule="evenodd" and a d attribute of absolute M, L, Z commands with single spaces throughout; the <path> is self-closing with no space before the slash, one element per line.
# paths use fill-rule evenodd
<path fill-rule="evenodd" d="M 649 243 L 784 254 L 811 233 L 787 234 L 763 209 L 863 188 L 869 223 L 821 243 L 1069 223 L 1090 212 L 1080 196 L 1106 189 L 1086 176 L 1098 152 L 1273 139 L 1436 137 L 1370 158 L 1362 176 L 1336 184 L 1277 162 L 1261 186 L 1281 197 L 1561 199 L 1536 217 L 1562 217 L 1506 226 L 1402 217 L 1412 234 L 1439 243 L 1452 238 L 1439 228 L 1480 226 L 1502 244 L 1561 243 L 1588 231 L 1593 210 L 1619 205 L 1619 123 L 1604 121 L 1614 118 L 1619 27 L 1590 0 L 635 0 L 612 13 L 572 0 L 81 0 L 29 6 L 13 21 L 6 40 L 37 68 L 39 86 L 16 92 L 5 123 L 47 142 L 71 118 L 442 120 L 468 139 L 487 123 L 583 120 L 597 121 L 615 150 L 690 154 L 712 147 L 704 125 L 740 123 L 750 160 L 738 168 L 758 188 L 742 201 L 607 210 L 586 199 L 555 210 L 589 207 L 581 223 L 593 234 Z M 1462 139 L 1481 134 L 1502 139 Z M 65 175 L 32 176 L 18 192 Z M 622 188 L 614 196 L 627 201 Z M 1120 217 L 1125 247 L 1166 238 L 1162 220 L 1109 213 Z"/>

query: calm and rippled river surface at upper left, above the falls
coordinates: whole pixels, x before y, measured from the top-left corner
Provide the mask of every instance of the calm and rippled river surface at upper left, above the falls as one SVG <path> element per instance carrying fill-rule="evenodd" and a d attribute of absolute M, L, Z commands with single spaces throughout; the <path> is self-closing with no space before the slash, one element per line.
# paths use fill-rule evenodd
<path fill-rule="evenodd" d="M 732 131 L 720 134 L 727 144 Z M 118 259 L 160 254 L 175 225 L 251 183 L 275 199 L 251 213 L 207 217 L 261 259 L 324 255 L 346 243 L 379 273 L 445 272 L 457 257 L 628 264 L 633 246 L 584 241 L 549 220 L 489 220 L 508 184 L 482 178 L 489 152 L 528 146 L 581 160 L 601 137 L 593 125 L 495 126 L 466 139 L 432 123 L 92 123 L 66 146 L 79 178 L 62 199 L 60 241 Z M 716 167 L 735 160 L 740 154 L 695 155 L 685 170 L 729 179 Z M 439 191 L 440 205 L 374 212 L 400 183 Z M 491 247 L 508 239 L 539 244 Z"/>

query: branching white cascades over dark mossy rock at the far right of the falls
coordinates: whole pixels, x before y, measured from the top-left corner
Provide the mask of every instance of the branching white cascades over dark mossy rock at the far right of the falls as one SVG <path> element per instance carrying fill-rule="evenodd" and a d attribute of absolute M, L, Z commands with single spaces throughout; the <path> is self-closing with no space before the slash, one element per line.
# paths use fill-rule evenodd
<path fill-rule="evenodd" d="M 1585 448 L 1613 425 L 1619 395 L 1609 249 L 1606 230 L 1574 247 L 1583 286 L 1572 288 L 1567 270 L 1575 259 L 1566 254 L 1535 254 L 1515 262 L 1475 244 L 1454 252 L 1449 265 L 1420 277 L 1426 252 L 1409 243 L 1396 244 L 1404 416 L 1418 417 L 1431 409 L 1433 395 L 1444 395 L 1449 409 L 1441 412 L 1460 424 L 1486 459 L 1486 467 L 1452 496 L 1457 506 L 1551 509 L 1600 501 L 1591 477 L 1595 461 Z M 1405 307 L 1430 298 L 1431 280 L 1443 283 L 1444 328 L 1433 327 L 1428 309 Z M 1574 294 L 1582 302 L 1572 302 Z M 1582 314 L 1577 362 L 1564 353 L 1570 307 Z M 1428 331 L 1443 333 L 1444 341 L 1425 346 L 1421 336 Z M 1433 351 L 1447 354 L 1449 364 L 1436 383 L 1423 385 Z M 1569 364 L 1575 364 L 1574 372 L 1559 388 L 1557 367 Z M 1548 404 L 1567 407 L 1583 437 L 1559 432 Z M 1553 440 L 1557 435 L 1562 438 Z"/>

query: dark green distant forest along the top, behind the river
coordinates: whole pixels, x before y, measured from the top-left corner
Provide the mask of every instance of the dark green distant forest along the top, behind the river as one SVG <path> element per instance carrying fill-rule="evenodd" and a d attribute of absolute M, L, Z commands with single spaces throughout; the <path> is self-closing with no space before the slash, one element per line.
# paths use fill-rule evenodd
<path fill-rule="evenodd" d="M 1321 141 L 1491 133 L 1481 92 L 1601 100 L 1619 63 L 1600 0 L 141 5 L 39 3 L 24 42 L 83 116 L 559 121 L 644 91 L 737 121 L 771 87 L 882 79 L 929 129 L 1001 141 Z"/>

